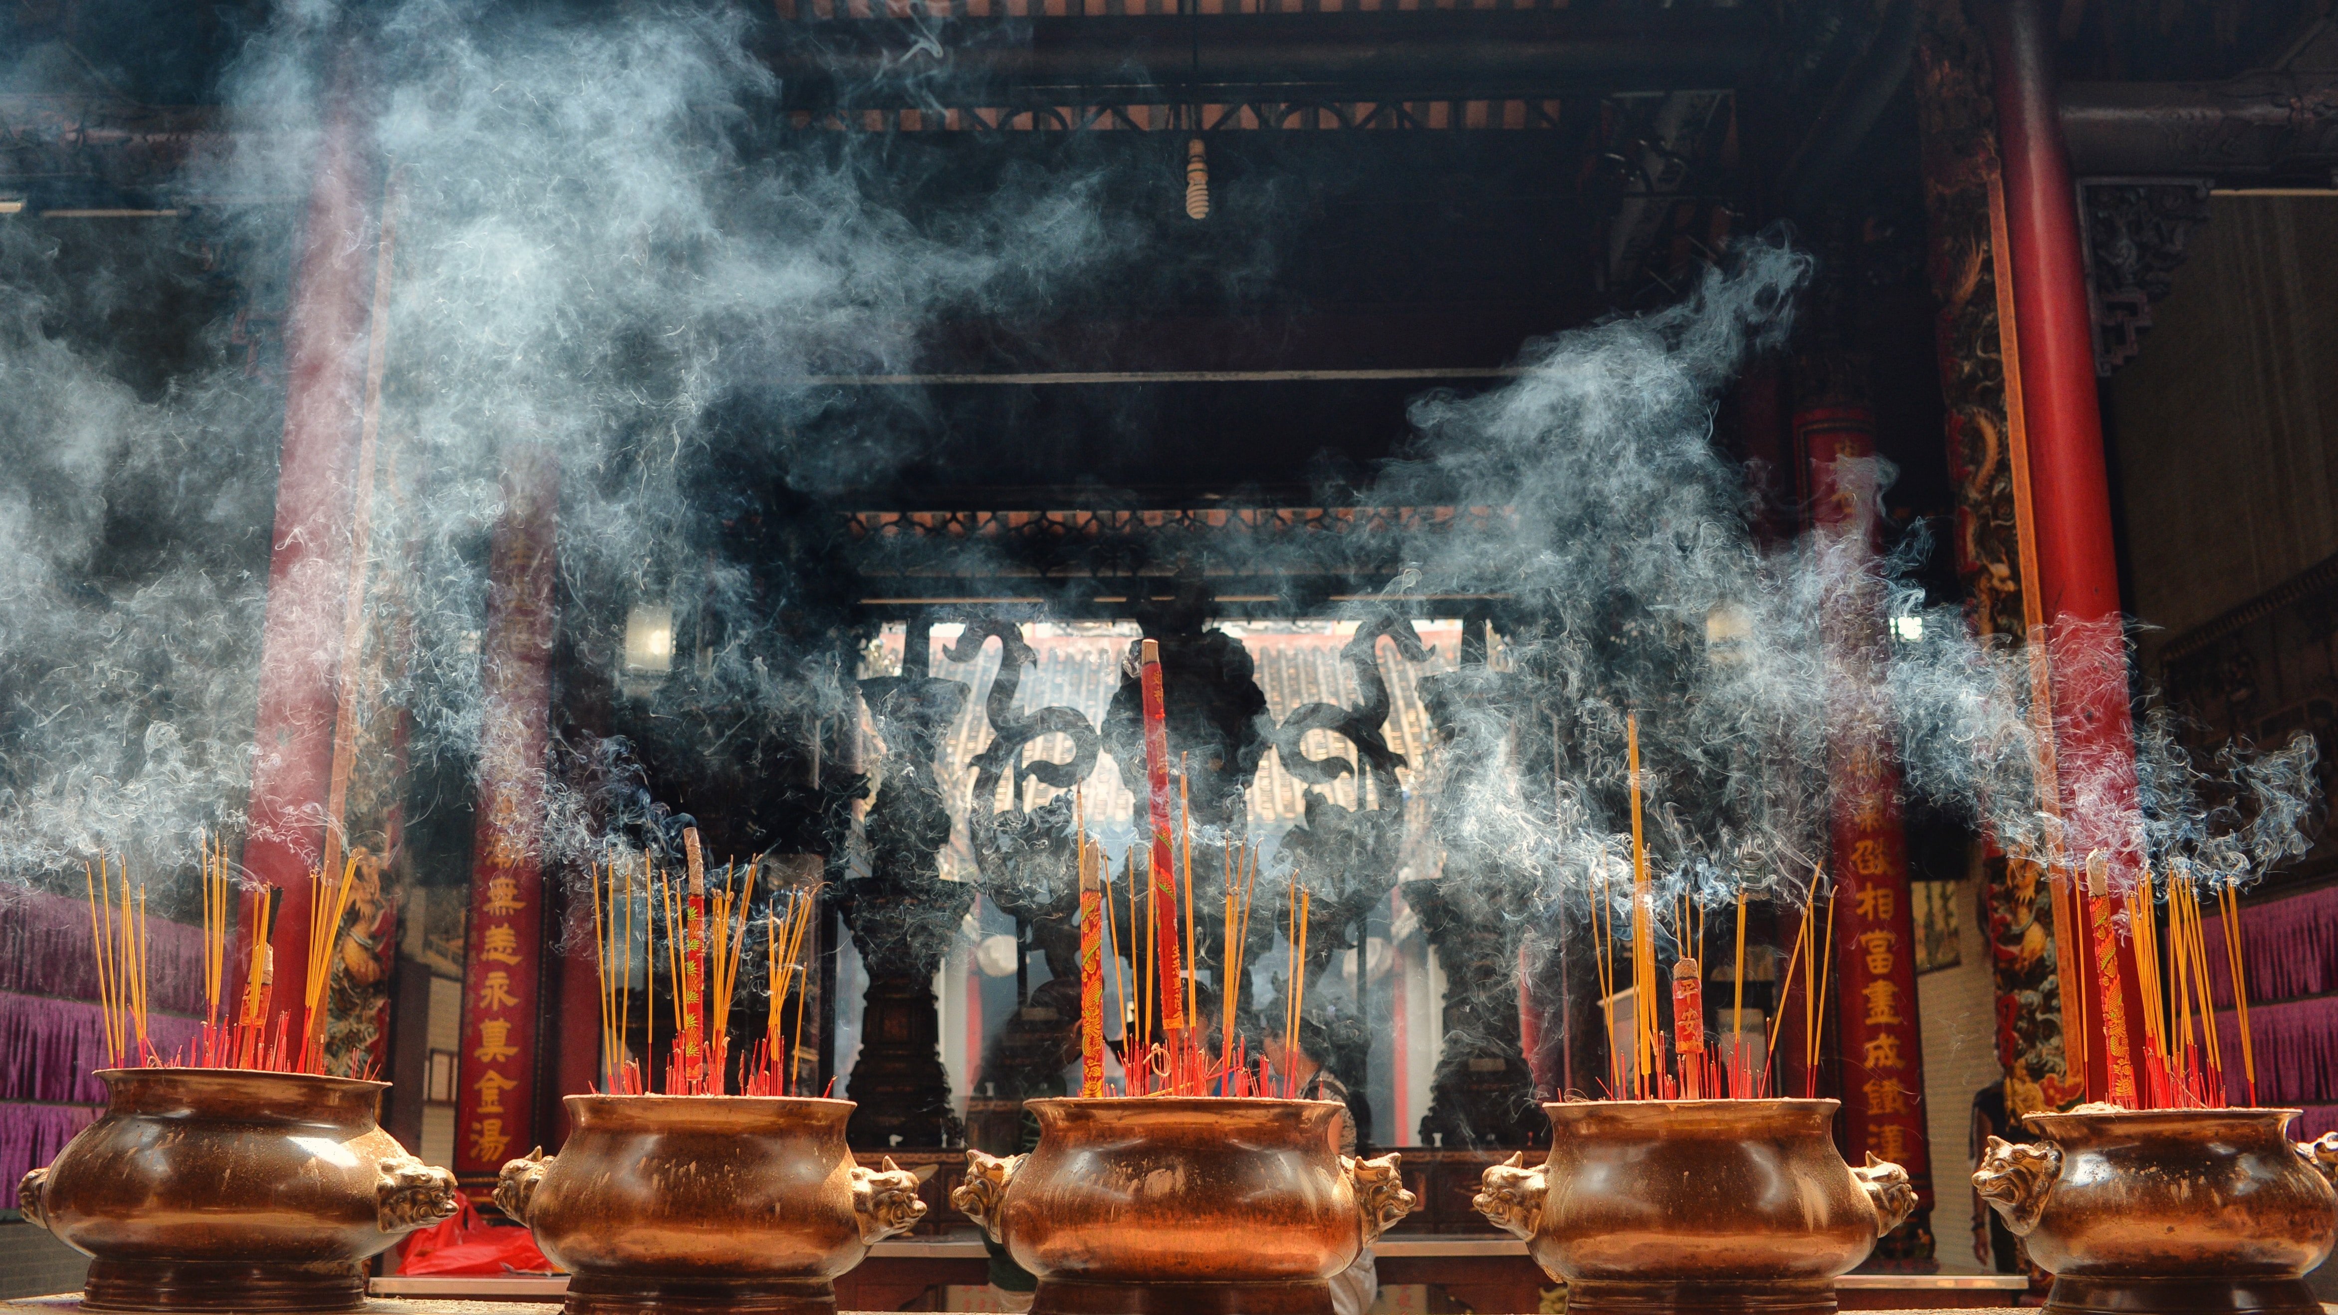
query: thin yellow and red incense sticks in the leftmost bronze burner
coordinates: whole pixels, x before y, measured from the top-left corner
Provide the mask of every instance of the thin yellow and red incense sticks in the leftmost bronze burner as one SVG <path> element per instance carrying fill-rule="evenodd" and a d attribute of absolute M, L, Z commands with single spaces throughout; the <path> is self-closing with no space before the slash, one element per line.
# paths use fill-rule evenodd
<path fill-rule="evenodd" d="M 281 888 L 236 890 L 224 841 L 201 841 L 199 892 L 203 906 L 203 1023 L 192 1051 L 161 1056 L 147 1037 L 147 892 L 131 885 L 129 864 L 98 857 L 84 864 L 89 937 L 98 951 L 98 1007 L 105 1058 L 171 1067 L 245 1067 L 264 1072 L 325 1072 L 325 1011 L 332 965 L 341 946 L 360 853 L 351 853 L 334 883 L 309 874 L 309 976 L 302 981 L 299 1028 L 292 1011 L 271 1011 L 276 1000 L 274 951 Z M 243 986 L 229 990 L 231 967 L 243 958 Z M 234 1016 L 227 1000 L 236 997 Z M 372 1070 L 358 1074 L 372 1077 Z"/>

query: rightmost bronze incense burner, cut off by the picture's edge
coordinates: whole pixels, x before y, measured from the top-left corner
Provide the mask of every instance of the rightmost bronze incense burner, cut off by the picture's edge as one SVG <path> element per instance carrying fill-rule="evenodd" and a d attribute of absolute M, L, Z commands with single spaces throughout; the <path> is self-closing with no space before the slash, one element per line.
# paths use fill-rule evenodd
<path fill-rule="evenodd" d="M 2064 1315 L 2319 1315 L 2305 1273 L 2338 1233 L 2338 1133 L 2291 1144 L 2296 1109 L 2029 1114 L 1990 1137 L 1973 1189 L 2050 1271 Z"/>

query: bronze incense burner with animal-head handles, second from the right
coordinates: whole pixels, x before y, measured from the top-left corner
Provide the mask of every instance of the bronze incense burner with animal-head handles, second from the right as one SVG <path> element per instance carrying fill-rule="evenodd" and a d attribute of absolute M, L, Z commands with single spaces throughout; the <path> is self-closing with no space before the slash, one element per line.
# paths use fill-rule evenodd
<path fill-rule="evenodd" d="M 1842 1163 L 1835 1100 L 1569 1100 L 1550 1159 L 1485 1170 L 1478 1212 L 1566 1282 L 1573 1315 L 1826 1315 L 1915 1210 L 1896 1163 Z"/>

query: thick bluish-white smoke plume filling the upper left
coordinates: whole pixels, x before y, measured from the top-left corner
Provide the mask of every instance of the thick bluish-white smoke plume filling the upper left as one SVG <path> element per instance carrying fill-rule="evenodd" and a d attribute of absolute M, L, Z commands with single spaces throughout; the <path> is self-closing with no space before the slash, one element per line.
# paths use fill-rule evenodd
<path fill-rule="evenodd" d="M 1075 168 L 912 220 L 872 199 L 884 142 L 750 147 L 779 131 L 779 89 L 746 44 L 720 9 L 290 5 L 171 189 L 194 220 L 140 238 L 274 278 L 332 117 L 369 135 L 393 250 L 367 626 L 411 642 L 367 705 L 404 710 L 414 771 L 479 750 L 486 542 L 519 458 L 556 472 L 563 628 L 589 659 L 615 652 L 624 598 L 697 619 L 697 677 L 657 694 L 659 717 L 755 771 L 772 726 L 842 710 L 825 649 L 774 621 L 821 582 L 748 579 L 718 526 L 916 455 L 877 409 L 800 444 L 846 404 L 807 376 L 909 369 L 940 315 L 1043 294 L 1111 250 Z M 12 89 L 49 91 L 47 68 Z M 61 243 L 0 224 L 0 871 L 19 878 L 98 850 L 178 867 L 243 825 L 283 390 L 224 318 L 152 395 L 122 383 L 138 362 L 58 332 L 136 313 L 122 299 L 147 273 L 82 278 L 68 304 Z M 346 577 L 278 589 L 339 598 Z M 341 628 L 302 642 L 337 654 Z M 606 822 L 561 799 L 552 815 L 573 822 L 556 850 Z"/>

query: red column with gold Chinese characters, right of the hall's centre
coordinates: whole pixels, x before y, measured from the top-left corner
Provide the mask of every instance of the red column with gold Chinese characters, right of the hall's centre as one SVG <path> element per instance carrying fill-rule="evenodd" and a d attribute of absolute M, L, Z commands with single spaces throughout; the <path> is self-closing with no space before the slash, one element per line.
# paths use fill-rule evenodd
<path fill-rule="evenodd" d="M 1908 832 L 1877 696 L 1889 640 L 1873 575 L 1882 498 L 1875 413 L 1812 406 L 1796 413 L 1793 430 L 1810 472 L 1819 551 L 1833 572 L 1821 624 L 1833 705 L 1826 768 L 1845 1144 L 1854 1163 L 1873 1152 L 1905 1168 L 1931 1210 Z"/>

